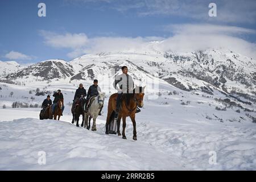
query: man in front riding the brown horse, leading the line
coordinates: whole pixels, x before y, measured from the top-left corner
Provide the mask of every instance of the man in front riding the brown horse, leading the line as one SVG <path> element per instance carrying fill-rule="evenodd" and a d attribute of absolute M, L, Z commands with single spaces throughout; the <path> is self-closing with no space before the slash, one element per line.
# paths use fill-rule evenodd
<path fill-rule="evenodd" d="M 121 69 L 123 73 L 121 75 L 116 76 L 115 81 L 113 82 L 114 88 L 118 91 L 117 104 L 115 110 L 116 113 L 118 113 L 121 109 L 120 102 L 122 93 L 133 93 L 134 89 L 133 77 L 127 74 L 128 68 L 126 66 L 123 66 Z M 141 110 L 137 107 L 136 113 L 138 113 L 139 111 Z"/>

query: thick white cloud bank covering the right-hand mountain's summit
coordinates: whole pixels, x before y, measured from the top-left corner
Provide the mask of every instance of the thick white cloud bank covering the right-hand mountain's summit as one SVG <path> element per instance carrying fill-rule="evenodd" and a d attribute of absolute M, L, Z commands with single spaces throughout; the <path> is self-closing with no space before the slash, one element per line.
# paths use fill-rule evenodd
<path fill-rule="evenodd" d="M 159 45 L 162 51 L 184 52 L 225 48 L 256 59 L 256 44 L 242 39 L 245 34 L 255 34 L 255 30 L 212 24 L 181 24 L 169 27 L 174 36 Z"/>

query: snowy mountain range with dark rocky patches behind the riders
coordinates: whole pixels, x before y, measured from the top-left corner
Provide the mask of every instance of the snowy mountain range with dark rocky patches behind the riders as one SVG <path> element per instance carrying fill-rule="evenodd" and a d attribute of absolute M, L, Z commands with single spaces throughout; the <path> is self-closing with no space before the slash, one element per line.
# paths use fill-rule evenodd
<path fill-rule="evenodd" d="M 122 65 L 129 68 L 136 84 L 152 83 L 155 79 L 185 92 L 200 91 L 207 97 L 221 94 L 222 102 L 228 105 L 245 105 L 249 110 L 256 106 L 256 61 L 224 48 L 184 53 L 159 52 L 151 48 L 145 52 L 88 54 L 71 61 L 47 60 L 2 76 L 0 81 L 24 86 L 53 81 L 57 85 L 75 86 L 79 82 L 90 85 L 94 78 L 111 77 L 113 80 L 121 73 Z M 100 85 L 113 89 L 110 81 L 101 81 Z M 152 88 L 148 85 L 147 89 L 149 92 Z M 225 98 L 228 100 L 224 101 Z"/>

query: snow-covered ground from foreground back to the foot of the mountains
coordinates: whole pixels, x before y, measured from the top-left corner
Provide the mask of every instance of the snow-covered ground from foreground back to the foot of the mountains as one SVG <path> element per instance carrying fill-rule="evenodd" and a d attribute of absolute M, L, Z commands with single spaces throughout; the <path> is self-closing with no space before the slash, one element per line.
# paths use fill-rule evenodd
<path fill-rule="evenodd" d="M 41 84 L 29 87 L 0 84 L 2 170 L 256 169 L 256 124 L 248 117 L 248 114 L 256 117 L 255 111 L 239 107 L 216 110 L 216 106 L 225 107 L 214 100 L 224 99 L 217 91 L 210 96 L 160 83 L 159 97 L 148 100 L 145 96 L 144 108 L 136 115 L 138 140 L 134 141 L 129 118 L 127 140 L 105 135 L 109 94 L 103 115 L 97 118 L 97 131 L 72 125 L 68 102 L 72 102 L 76 89 L 73 84 L 61 82 L 45 88 L 51 92 L 60 88 L 64 93 L 65 110 L 60 121 L 39 120 L 40 108 L 11 108 L 14 101 L 40 105 L 46 96 L 35 96 L 35 92 L 29 91 L 43 90 L 45 84 Z M 84 85 L 87 88 L 89 83 Z M 35 99 L 31 100 L 31 96 Z M 2 109 L 3 104 L 6 109 Z M 241 105 L 254 109 L 254 105 Z M 40 151 L 46 152 L 46 164 L 38 163 Z"/>

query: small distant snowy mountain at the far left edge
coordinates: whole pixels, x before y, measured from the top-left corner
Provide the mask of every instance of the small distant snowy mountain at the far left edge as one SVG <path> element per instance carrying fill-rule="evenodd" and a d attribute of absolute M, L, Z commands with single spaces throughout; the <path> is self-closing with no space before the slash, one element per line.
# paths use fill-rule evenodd
<path fill-rule="evenodd" d="M 0 77 L 14 73 L 22 68 L 16 61 L 0 61 Z"/>

